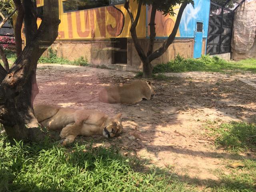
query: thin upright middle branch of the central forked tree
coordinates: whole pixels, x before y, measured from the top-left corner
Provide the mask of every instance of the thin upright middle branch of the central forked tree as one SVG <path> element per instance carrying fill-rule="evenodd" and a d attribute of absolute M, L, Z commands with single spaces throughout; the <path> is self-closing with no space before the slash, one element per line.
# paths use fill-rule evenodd
<path fill-rule="evenodd" d="M 153 50 L 154 50 L 154 43 L 155 43 L 155 37 L 156 37 L 156 27 L 155 27 L 155 18 L 156 18 L 156 5 L 153 4 L 152 5 L 152 10 L 151 10 L 151 14 L 150 14 L 150 36 L 149 36 L 149 44 L 148 44 L 148 53 L 147 56 L 149 56 L 150 54 L 152 54 Z"/>

